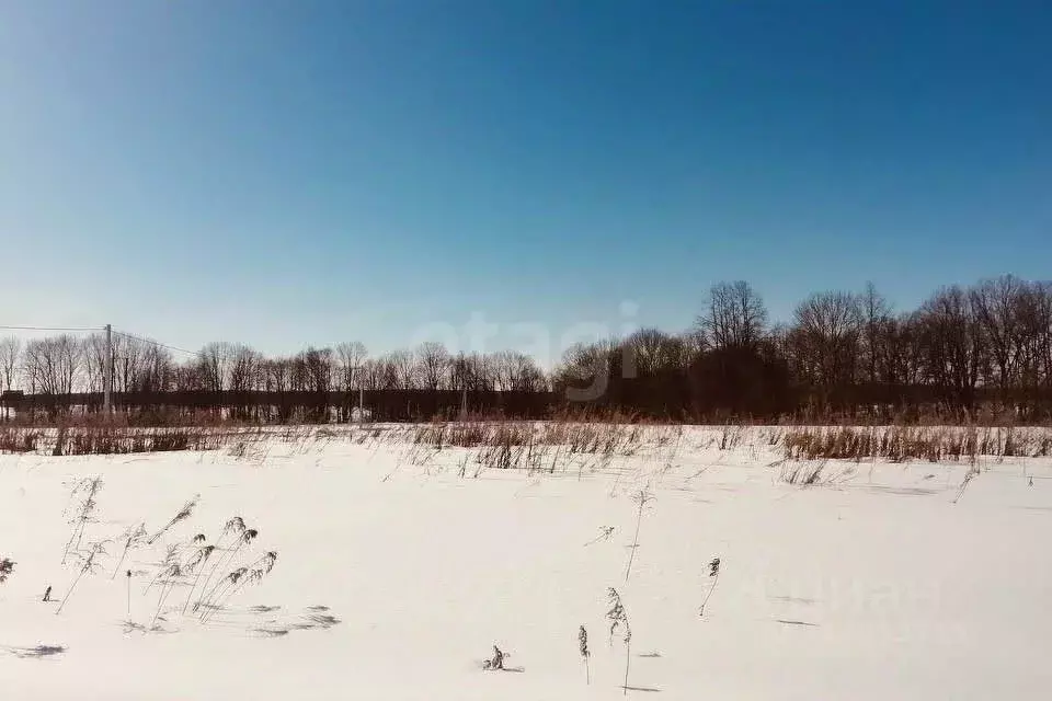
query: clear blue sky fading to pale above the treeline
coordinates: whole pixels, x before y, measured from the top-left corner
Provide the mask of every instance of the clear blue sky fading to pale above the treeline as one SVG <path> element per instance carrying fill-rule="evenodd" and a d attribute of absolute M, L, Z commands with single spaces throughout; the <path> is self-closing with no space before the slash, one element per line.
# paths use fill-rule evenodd
<path fill-rule="evenodd" d="M 721 279 L 788 318 L 1049 278 L 1049 36 L 1047 2 L 2 2 L 0 323 L 379 352 L 476 314 L 495 349 L 681 330 Z"/>

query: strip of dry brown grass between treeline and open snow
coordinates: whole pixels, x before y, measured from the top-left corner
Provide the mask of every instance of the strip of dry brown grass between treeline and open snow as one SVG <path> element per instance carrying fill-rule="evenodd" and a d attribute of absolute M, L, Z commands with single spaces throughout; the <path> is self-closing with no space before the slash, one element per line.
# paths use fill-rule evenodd
<path fill-rule="evenodd" d="M 688 450 L 748 451 L 754 459 L 761 452 L 777 451 L 789 461 L 974 462 L 980 458 L 1052 457 L 1052 429 L 1010 424 L 686 427 L 639 422 L 631 415 L 565 415 L 547 422 L 472 420 L 330 426 L 0 425 L 0 452 L 8 453 L 87 456 L 224 449 L 236 458 L 263 462 L 270 459 L 276 443 L 304 453 L 330 443 L 375 450 L 385 445 L 409 446 L 408 462 L 416 466 L 430 463 L 442 451 L 464 449 L 468 452 L 460 471 L 476 475 L 490 468 L 529 473 L 572 469 L 580 475 L 607 469 L 631 456 L 671 463 L 681 445 Z M 479 468 L 468 469 L 468 461 Z"/>

